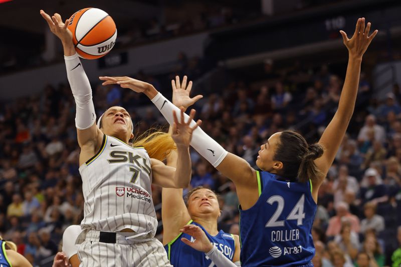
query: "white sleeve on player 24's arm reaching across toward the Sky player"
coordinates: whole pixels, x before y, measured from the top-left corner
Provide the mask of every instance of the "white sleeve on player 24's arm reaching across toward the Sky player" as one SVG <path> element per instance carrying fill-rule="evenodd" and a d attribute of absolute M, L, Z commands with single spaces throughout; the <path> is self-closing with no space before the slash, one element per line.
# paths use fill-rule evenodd
<path fill-rule="evenodd" d="M 174 118 L 172 111 L 175 110 L 178 120 L 180 120 L 180 110 L 168 101 L 162 94 L 158 93 L 153 99 L 153 104 L 159 109 L 161 114 L 172 125 Z M 184 113 L 184 118 L 187 121 L 189 116 Z M 192 120 L 190 126 L 196 123 Z M 219 145 L 213 138 L 207 135 L 200 127 L 197 127 L 192 133 L 192 140 L 190 145 L 206 160 L 208 160 L 214 167 L 219 166 L 223 159 L 227 156 L 227 151 Z"/>

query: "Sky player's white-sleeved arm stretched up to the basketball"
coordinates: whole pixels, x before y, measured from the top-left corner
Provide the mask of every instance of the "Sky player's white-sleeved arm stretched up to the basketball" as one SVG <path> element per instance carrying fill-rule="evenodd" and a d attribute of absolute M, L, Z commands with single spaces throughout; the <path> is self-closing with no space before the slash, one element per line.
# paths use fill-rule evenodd
<path fill-rule="evenodd" d="M 96 126 L 96 113 L 92 101 L 92 90 L 88 77 L 82 67 L 72 41 L 72 33 L 67 26 L 69 20 L 63 23 L 59 14 L 50 17 L 43 10 L 41 16 L 46 20 L 50 30 L 62 42 L 67 78 L 70 83 L 76 104 L 75 125 L 77 127 L 78 143 L 82 149 L 80 165 L 93 156 L 99 149 L 103 134 Z"/>

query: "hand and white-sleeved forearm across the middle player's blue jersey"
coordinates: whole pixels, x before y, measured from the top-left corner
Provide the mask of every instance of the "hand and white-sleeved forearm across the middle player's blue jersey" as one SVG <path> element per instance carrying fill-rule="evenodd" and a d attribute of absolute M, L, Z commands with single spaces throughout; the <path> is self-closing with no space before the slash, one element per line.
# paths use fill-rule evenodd
<path fill-rule="evenodd" d="M 235 262 L 226 257 L 219 249 L 217 249 L 206 236 L 205 232 L 197 225 L 188 224 L 180 229 L 181 232 L 189 234 L 195 240 L 191 242 L 186 238 L 181 238 L 181 241 L 189 245 L 193 249 L 204 252 L 217 267 L 235 267 L 241 266 L 239 259 Z M 237 245 L 237 244 L 236 244 Z M 233 258 L 234 260 L 234 258 Z"/>

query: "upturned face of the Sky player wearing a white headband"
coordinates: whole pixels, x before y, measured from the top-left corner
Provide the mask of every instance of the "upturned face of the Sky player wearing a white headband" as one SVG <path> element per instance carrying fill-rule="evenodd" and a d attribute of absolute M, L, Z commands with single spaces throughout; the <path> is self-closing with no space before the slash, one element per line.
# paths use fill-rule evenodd
<path fill-rule="evenodd" d="M 122 107 L 109 108 L 102 117 L 102 130 L 107 135 L 119 136 L 123 133 L 127 139 L 132 138 L 132 124 L 129 113 Z"/>

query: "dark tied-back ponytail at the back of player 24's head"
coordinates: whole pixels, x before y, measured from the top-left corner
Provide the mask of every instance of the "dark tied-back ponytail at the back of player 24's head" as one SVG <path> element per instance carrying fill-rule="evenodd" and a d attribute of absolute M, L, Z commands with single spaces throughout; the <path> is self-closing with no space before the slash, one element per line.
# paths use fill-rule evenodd
<path fill-rule="evenodd" d="M 315 164 L 315 159 L 320 158 L 322 155 L 323 147 L 320 144 L 313 144 L 308 147 L 298 170 L 298 180 L 300 182 L 306 182 L 309 179 L 313 180 L 322 176 L 322 172 Z"/>

